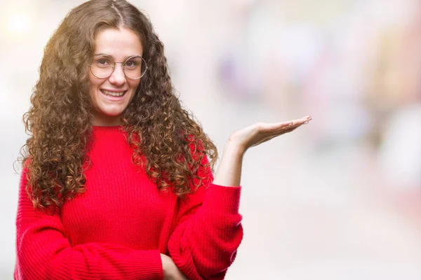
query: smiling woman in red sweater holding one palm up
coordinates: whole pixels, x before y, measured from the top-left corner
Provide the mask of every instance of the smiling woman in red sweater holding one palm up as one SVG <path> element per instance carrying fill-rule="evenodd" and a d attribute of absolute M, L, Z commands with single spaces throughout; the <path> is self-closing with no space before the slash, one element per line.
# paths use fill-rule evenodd
<path fill-rule="evenodd" d="M 70 11 L 31 102 L 15 279 L 223 279 L 243 235 L 243 154 L 311 120 L 235 132 L 213 178 L 216 148 L 124 0 Z"/>

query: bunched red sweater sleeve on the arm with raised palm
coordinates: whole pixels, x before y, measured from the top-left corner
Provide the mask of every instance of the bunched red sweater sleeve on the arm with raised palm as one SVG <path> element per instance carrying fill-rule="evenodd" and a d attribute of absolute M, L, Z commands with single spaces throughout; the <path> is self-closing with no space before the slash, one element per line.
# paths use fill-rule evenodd
<path fill-rule="evenodd" d="M 203 157 L 202 165 L 207 162 Z M 168 251 L 189 279 L 224 279 L 243 238 L 241 187 L 211 183 L 210 168 L 199 168 L 199 175 L 206 179 L 195 193 L 180 201 Z"/>

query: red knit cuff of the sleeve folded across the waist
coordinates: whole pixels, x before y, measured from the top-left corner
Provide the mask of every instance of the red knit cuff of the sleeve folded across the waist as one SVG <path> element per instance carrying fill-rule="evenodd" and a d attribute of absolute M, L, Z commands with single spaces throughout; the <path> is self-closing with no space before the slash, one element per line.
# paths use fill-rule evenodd
<path fill-rule="evenodd" d="M 135 251 L 131 258 L 135 279 L 162 280 L 163 267 L 159 250 Z"/>

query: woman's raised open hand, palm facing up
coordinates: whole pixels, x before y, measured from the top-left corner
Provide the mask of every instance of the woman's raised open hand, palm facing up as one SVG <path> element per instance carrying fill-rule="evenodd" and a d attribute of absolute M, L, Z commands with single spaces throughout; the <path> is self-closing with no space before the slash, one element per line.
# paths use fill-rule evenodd
<path fill-rule="evenodd" d="M 312 116 L 282 123 L 255 123 L 234 132 L 229 137 L 229 142 L 236 144 L 242 153 L 246 153 L 248 148 L 258 146 L 279 135 L 292 132 L 310 120 L 312 120 Z"/>

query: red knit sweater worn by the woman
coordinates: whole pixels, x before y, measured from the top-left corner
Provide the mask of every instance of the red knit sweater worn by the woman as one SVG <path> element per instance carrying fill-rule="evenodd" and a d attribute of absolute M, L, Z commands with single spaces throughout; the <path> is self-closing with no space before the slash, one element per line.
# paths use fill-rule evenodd
<path fill-rule="evenodd" d="M 189 279 L 224 279 L 243 237 L 241 187 L 214 185 L 210 169 L 199 169 L 208 180 L 180 200 L 133 165 L 121 126 L 93 135 L 86 192 L 58 214 L 34 210 L 23 169 L 15 279 L 163 279 L 160 253 Z"/>

